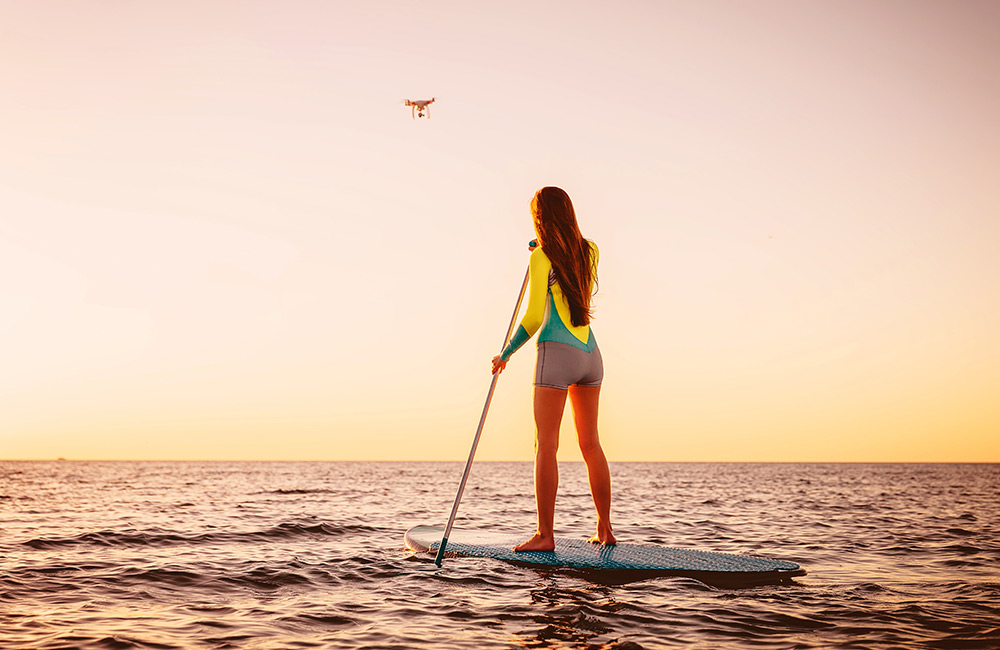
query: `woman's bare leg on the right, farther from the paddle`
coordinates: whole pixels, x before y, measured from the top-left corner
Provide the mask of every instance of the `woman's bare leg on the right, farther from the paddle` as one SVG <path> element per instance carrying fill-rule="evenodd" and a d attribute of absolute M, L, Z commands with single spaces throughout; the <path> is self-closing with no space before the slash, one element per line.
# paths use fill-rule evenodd
<path fill-rule="evenodd" d="M 611 545 L 618 540 L 611 530 L 611 471 L 597 434 L 597 407 L 600 395 L 600 386 L 569 387 L 573 420 L 576 422 L 576 436 L 583 460 L 587 464 L 590 493 L 594 497 L 594 509 L 597 510 L 597 534 L 591 537 L 590 541 Z"/>

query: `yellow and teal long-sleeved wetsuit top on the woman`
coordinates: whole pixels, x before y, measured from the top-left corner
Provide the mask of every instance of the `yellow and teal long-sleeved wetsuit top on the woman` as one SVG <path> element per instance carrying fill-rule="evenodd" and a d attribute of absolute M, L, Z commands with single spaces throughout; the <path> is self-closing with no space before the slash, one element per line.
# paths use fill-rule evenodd
<path fill-rule="evenodd" d="M 597 244 L 590 243 L 590 256 L 593 264 L 594 277 L 597 277 L 597 260 L 600 253 Z M 562 292 L 559 283 L 556 282 L 555 273 L 552 272 L 552 262 L 541 248 L 536 248 L 531 252 L 531 259 L 528 263 L 528 308 L 524 312 L 524 318 L 518 325 L 517 331 L 511 337 L 510 342 L 500 353 L 503 361 L 510 359 L 511 355 L 517 352 L 518 348 L 524 345 L 540 327 L 538 341 L 556 341 L 566 343 L 575 348 L 593 352 L 597 347 L 597 340 L 594 333 L 590 331 L 590 325 L 575 327 L 569 315 L 569 301 Z M 593 290 L 593 281 L 591 281 Z"/>

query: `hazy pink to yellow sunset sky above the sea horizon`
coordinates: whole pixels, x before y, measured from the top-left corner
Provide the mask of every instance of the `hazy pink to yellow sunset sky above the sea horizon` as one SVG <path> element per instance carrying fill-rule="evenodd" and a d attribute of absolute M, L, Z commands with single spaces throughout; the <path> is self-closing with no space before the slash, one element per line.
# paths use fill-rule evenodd
<path fill-rule="evenodd" d="M 612 462 L 1000 462 L 997 25 L 0 0 L 0 458 L 464 460 L 557 185 Z M 478 460 L 532 458 L 533 366 Z"/>

